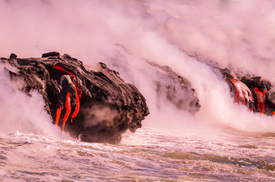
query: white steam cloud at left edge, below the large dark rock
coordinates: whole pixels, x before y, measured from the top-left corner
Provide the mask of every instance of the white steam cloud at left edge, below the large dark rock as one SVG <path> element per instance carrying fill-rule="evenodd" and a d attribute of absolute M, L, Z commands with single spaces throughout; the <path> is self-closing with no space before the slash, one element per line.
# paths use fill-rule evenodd
<path fill-rule="evenodd" d="M 0 67 L 0 133 L 20 131 L 41 134 L 47 137 L 65 137 L 61 130 L 52 125 L 50 115 L 44 109 L 42 95 L 31 91 L 32 97 L 19 91 L 20 80 L 10 82 L 8 71 Z M 67 137 L 67 135 L 66 135 Z"/>

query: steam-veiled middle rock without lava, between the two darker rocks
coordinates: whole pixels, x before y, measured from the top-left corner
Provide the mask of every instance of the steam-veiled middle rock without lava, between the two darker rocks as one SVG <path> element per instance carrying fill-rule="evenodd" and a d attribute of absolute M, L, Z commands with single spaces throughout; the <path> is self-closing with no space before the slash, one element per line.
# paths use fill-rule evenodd
<path fill-rule="evenodd" d="M 140 64 L 138 66 L 133 64 L 129 58 L 130 60 L 133 58 L 133 62 L 140 61 Z M 135 60 L 129 49 L 117 45 L 116 54 L 108 64 L 113 69 L 119 70 L 129 82 L 143 84 L 142 89 L 149 87 L 150 93 L 157 99 L 154 104 L 159 109 L 165 104 L 171 104 L 181 111 L 195 114 L 201 107 L 197 93 L 192 88 L 192 80 L 187 80 L 167 65 L 157 64 L 157 60 L 156 62 L 145 58 Z M 140 78 L 135 78 L 135 75 L 140 75 Z"/>

